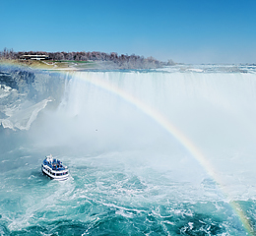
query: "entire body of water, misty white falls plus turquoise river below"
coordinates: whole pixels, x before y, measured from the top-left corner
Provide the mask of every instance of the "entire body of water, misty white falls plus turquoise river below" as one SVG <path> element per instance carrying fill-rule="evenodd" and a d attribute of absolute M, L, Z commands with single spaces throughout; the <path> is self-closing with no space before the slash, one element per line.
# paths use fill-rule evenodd
<path fill-rule="evenodd" d="M 256 74 L 236 69 L 68 74 L 57 107 L 2 133 L 19 139 L 0 155 L 1 234 L 253 234 Z M 40 174 L 49 152 L 71 179 Z"/>

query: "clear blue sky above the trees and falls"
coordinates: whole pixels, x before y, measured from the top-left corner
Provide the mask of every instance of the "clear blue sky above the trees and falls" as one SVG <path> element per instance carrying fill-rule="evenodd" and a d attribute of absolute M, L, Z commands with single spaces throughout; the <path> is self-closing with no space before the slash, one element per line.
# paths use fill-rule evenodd
<path fill-rule="evenodd" d="M 256 63 L 256 1 L 0 0 L 0 50 Z"/>

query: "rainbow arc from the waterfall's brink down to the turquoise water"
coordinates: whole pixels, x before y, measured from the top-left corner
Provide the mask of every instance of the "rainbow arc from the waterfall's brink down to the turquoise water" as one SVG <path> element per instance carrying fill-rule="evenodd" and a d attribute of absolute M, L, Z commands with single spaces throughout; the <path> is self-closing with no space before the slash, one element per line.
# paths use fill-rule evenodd
<path fill-rule="evenodd" d="M 127 91 L 120 89 L 116 86 L 110 85 L 107 83 L 107 80 L 100 80 L 97 77 L 91 77 L 88 72 L 76 72 L 71 73 L 71 75 L 81 82 L 85 82 L 96 86 L 99 89 L 104 89 L 108 92 L 111 92 L 120 98 L 124 99 L 125 101 L 131 103 L 143 113 L 151 117 L 155 120 L 165 131 L 167 131 L 172 137 L 174 137 L 184 148 L 186 148 L 192 156 L 200 163 L 200 165 L 207 171 L 207 173 L 211 176 L 213 180 L 215 180 L 217 186 L 222 187 L 222 192 L 224 193 L 224 197 L 226 198 L 227 202 L 229 203 L 230 207 L 233 208 L 236 215 L 238 215 L 240 222 L 246 232 L 249 235 L 256 235 L 252 227 L 252 223 L 247 217 L 242 208 L 240 207 L 237 201 L 233 201 L 230 196 L 228 195 L 227 191 L 224 188 L 224 184 L 222 183 L 222 179 L 216 173 L 215 169 L 212 166 L 212 163 L 204 156 L 204 154 L 196 148 L 191 140 L 189 140 L 180 130 L 178 130 L 173 124 L 169 122 L 169 120 L 164 117 L 157 109 L 149 106 L 148 104 L 142 102 L 137 97 L 133 96 L 132 94 L 128 93 Z"/>

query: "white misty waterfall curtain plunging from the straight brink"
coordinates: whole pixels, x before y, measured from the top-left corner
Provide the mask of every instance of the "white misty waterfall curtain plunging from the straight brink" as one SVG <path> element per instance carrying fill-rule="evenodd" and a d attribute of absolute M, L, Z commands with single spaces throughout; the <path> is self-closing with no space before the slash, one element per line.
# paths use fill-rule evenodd
<path fill-rule="evenodd" d="M 236 178 L 225 181 L 240 181 L 246 174 L 251 177 L 255 74 L 77 72 L 69 77 L 57 111 L 40 124 L 44 140 L 39 143 L 81 153 L 140 150 L 143 161 L 146 158 L 156 165 L 159 158 L 160 168 L 165 165 L 181 178 L 179 173 L 184 177 L 185 172 L 200 169 L 198 157 L 188 151 L 186 143 L 191 142 L 219 176 L 235 174 Z M 187 141 L 167 132 L 155 114 Z M 203 164 L 201 172 L 209 172 L 204 169 Z"/>

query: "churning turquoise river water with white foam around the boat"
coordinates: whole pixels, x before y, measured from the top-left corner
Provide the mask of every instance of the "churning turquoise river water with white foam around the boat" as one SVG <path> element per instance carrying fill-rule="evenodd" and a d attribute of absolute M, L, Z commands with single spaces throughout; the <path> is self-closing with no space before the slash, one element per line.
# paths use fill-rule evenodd
<path fill-rule="evenodd" d="M 68 181 L 43 176 L 38 152 L 5 156 L 21 167 L 1 173 L 2 235 L 246 234 L 211 180 L 173 182 L 168 173 L 129 163 L 134 153 L 58 157 L 70 167 Z M 240 204 L 254 220 L 255 201 Z"/>

